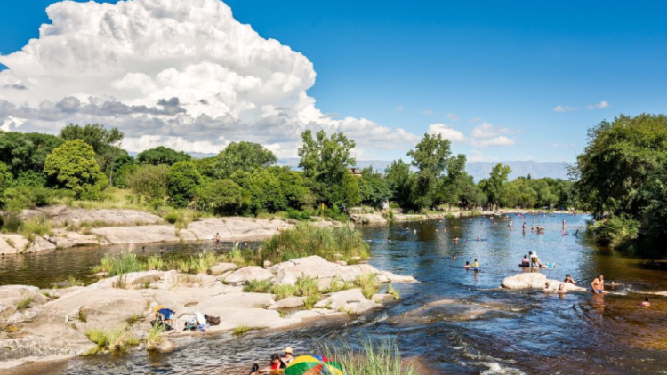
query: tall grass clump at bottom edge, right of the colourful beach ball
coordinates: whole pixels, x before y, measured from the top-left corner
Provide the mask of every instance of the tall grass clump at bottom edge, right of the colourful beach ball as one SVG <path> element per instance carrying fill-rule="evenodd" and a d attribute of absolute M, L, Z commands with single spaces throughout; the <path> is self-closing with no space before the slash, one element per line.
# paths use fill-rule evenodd
<path fill-rule="evenodd" d="M 319 344 L 320 353 L 341 363 L 345 375 L 419 375 L 413 363 L 404 362 L 396 342 L 384 340 L 374 344 L 370 340 L 354 349 L 346 341 Z"/>

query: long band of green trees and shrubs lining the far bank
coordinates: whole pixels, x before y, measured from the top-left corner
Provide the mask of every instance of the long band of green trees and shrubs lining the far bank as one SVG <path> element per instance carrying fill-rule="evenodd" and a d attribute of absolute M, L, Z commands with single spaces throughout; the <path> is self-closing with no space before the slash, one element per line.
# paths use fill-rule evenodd
<path fill-rule="evenodd" d="M 384 172 L 355 168 L 356 143 L 342 132 L 303 132 L 299 170 L 276 166 L 269 149 L 245 141 L 201 159 L 165 147 L 133 157 L 121 148 L 124 136 L 101 124 L 68 124 L 58 135 L 0 132 L 0 247 L 38 251 L 62 230 L 92 235 L 87 243 L 93 244 L 95 236 L 104 237 L 96 228 L 115 226 L 103 216 L 55 222 L 44 214 L 53 206 L 148 212 L 174 232 L 184 231 L 176 241 L 189 241 L 189 226 L 202 219 L 282 219 L 294 225 L 347 222 L 373 211 L 392 221 L 577 203 L 572 182 L 529 175 L 509 181 L 510 169 L 502 164 L 475 183 L 464 171 L 465 156 L 454 156 L 449 140 L 439 135 L 425 134 L 407 153 L 409 164 L 398 160 Z M 158 223 L 136 223 L 149 224 Z"/>

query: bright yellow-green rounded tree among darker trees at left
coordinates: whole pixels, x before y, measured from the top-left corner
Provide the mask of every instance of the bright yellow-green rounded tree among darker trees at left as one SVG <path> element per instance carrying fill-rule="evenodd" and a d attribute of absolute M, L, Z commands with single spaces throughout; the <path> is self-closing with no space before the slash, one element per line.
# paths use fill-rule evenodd
<path fill-rule="evenodd" d="M 44 172 L 52 185 L 67 188 L 81 196 L 100 188 L 104 175 L 95 161 L 95 151 L 83 140 L 69 140 L 46 157 Z"/>

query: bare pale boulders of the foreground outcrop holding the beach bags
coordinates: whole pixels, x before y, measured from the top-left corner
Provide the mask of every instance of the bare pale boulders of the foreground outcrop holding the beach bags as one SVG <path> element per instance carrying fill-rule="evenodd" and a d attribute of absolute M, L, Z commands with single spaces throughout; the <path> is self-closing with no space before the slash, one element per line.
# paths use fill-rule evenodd
<path fill-rule="evenodd" d="M 173 350 L 173 339 L 247 329 L 289 329 L 311 320 L 343 319 L 390 303 L 395 296 L 365 296 L 353 287 L 360 277 L 374 275 L 377 283 L 411 283 L 411 276 L 394 275 L 367 264 L 343 266 L 317 256 L 293 259 L 269 268 L 237 267 L 221 263 L 208 273 L 147 271 L 100 280 L 85 287 L 39 289 L 25 285 L 0 287 L 0 370 L 24 363 L 84 355 L 96 344 L 86 337 L 94 330 L 123 330 L 145 349 L 154 307 L 176 312 L 175 330 L 163 334 L 157 350 Z M 293 286 L 315 280 L 316 301 L 305 297 L 244 292 L 244 285 L 265 280 L 270 285 Z M 347 288 L 335 287 L 342 283 Z M 332 289 L 336 291 L 332 292 Z M 284 296 L 283 296 L 284 297 Z M 370 298 L 366 298 L 370 297 Z M 220 325 L 205 333 L 181 332 L 195 312 L 219 316 Z"/>

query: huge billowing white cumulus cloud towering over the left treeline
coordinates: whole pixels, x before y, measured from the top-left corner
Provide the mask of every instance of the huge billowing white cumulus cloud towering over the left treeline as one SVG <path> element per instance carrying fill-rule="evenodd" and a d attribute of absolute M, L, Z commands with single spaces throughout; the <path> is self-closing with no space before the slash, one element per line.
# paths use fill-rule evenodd
<path fill-rule="evenodd" d="M 20 52 L 0 56 L 4 130 L 57 132 L 100 123 L 131 151 L 163 144 L 213 153 L 250 140 L 294 156 L 305 129 L 343 131 L 359 148 L 419 137 L 364 118 L 323 114 L 312 63 L 259 36 L 218 0 L 63 2 Z"/>

